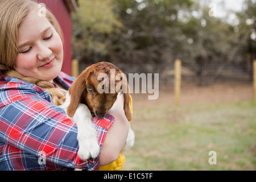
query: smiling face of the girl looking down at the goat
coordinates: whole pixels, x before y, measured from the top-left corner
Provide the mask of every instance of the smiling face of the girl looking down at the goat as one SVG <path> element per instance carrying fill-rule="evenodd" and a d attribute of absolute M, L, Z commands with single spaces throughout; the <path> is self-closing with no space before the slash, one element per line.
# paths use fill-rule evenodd
<path fill-rule="evenodd" d="M 31 10 L 20 24 L 18 52 L 14 68 L 20 74 L 51 82 L 59 75 L 63 43 L 49 20 L 36 10 Z"/>

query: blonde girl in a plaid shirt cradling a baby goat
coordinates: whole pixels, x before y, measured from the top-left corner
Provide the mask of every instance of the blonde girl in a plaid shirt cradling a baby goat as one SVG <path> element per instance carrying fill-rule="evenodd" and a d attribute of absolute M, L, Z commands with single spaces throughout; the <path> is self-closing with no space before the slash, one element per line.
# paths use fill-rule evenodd
<path fill-rule="evenodd" d="M 0 1 L 0 170 L 97 170 L 118 158 L 129 122 L 123 98 L 104 119 L 93 118 L 101 153 L 77 155 L 77 127 L 57 102 L 75 78 L 61 72 L 63 36 L 38 3 Z M 115 120 L 115 121 L 114 121 Z"/>

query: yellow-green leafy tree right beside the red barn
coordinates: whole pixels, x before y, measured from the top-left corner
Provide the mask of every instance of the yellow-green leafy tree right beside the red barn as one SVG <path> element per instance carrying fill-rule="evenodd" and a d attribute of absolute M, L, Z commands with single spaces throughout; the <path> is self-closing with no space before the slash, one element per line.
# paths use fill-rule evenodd
<path fill-rule="evenodd" d="M 84 63 L 96 63 L 108 55 L 112 36 L 122 27 L 113 11 L 112 0 L 79 1 L 72 15 L 73 57 Z"/>

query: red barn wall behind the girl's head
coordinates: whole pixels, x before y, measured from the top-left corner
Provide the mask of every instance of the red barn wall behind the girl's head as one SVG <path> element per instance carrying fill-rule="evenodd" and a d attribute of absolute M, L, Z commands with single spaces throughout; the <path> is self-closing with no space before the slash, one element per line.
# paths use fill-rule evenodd
<path fill-rule="evenodd" d="M 38 0 L 39 3 L 46 4 L 47 9 L 51 10 L 58 20 L 64 34 L 64 60 L 62 71 L 71 75 L 72 59 L 72 22 L 71 14 L 63 0 Z"/>

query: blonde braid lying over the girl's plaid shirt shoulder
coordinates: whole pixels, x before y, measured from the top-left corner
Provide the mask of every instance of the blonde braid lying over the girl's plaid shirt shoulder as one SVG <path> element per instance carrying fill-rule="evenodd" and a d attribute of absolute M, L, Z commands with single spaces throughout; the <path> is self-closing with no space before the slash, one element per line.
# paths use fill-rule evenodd
<path fill-rule="evenodd" d="M 1 67 L 1 64 L 0 64 L 0 67 Z M 48 81 L 39 80 L 38 78 L 26 77 L 14 70 L 6 71 L 5 75 L 19 78 L 20 80 L 27 81 L 27 82 L 30 82 L 31 84 L 40 86 L 41 88 L 43 88 L 44 90 L 46 90 L 46 92 L 48 92 L 50 94 L 53 104 L 55 104 L 57 106 L 63 104 L 63 102 L 66 99 L 65 93 L 67 92 L 67 90 L 55 88 L 55 86 Z"/>

